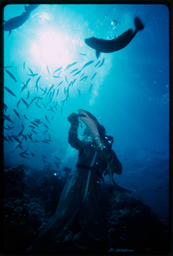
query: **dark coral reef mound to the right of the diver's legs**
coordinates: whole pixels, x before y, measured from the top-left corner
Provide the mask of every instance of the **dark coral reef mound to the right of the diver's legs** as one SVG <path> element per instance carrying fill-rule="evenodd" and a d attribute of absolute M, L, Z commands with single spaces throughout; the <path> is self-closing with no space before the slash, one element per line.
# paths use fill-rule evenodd
<path fill-rule="evenodd" d="M 168 222 L 158 219 L 140 198 L 117 191 L 112 193 L 106 211 L 109 246 L 115 248 L 115 252 L 126 249 L 139 254 L 165 253 L 169 241 Z"/>

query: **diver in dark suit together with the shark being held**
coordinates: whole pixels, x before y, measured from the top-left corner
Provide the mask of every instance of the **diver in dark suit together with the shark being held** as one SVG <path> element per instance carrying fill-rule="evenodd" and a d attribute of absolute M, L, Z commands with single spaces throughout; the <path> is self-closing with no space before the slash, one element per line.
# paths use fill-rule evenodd
<path fill-rule="evenodd" d="M 82 139 L 78 138 L 79 118 L 86 125 L 83 136 L 79 136 Z M 122 165 L 111 149 L 113 137 L 106 136 L 98 120 L 85 110 L 72 113 L 67 119 L 71 123 L 68 141 L 79 151 L 78 161 L 65 183 L 54 216 L 39 231 L 33 250 L 56 251 L 58 245 L 70 242 L 78 251 L 103 251 L 107 228 L 99 204 L 102 174 L 109 174 L 113 189 L 132 191 L 113 181 L 113 173 L 120 175 Z"/>

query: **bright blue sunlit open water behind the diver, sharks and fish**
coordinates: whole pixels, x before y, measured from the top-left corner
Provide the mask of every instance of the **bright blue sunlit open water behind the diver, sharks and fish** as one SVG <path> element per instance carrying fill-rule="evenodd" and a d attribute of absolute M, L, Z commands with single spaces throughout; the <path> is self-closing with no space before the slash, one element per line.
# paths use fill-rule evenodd
<path fill-rule="evenodd" d="M 78 151 L 68 143 L 70 123 L 67 117 L 78 113 L 78 109 L 91 112 L 107 131 L 114 137 L 112 149 L 122 163 L 122 174 L 114 174 L 115 182 L 126 189 L 135 190 L 134 196 L 139 196 L 144 203 L 162 217 L 169 215 L 169 9 L 165 5 L 39 5 L 30 14 L 29 19 L 20 27 L 12 30 L 8 39 L 8 31 L 4 32 L 4 66 L 13 66 L 8 70 L 15 76 L 17 82 L 4 71 L 4 86 L 8 87 L 17 97 L 4 89 L 4 103 L 8 106 L 6 115 L 10 115 L 13 123 L 4 121 L 4 126 L 15 126 L 4 130 L 4 135 L 18 135 L 25 126 L 23 134 L 31 133 L 33 139 L 40 142 L 31 143 L 30 139 L 22 140 L 23 149 L 15 147 L 13 142 L 4 141 L 4 165 L 24 163 L 26 168 L 44 171 L 45 165 L 51 163 L 56 169 L 54 155 L 61 159 L 63 166 L 74 169 L 78 159 Z M 115 53 L 101 53 L 97 59 L 95 50 L 87 46 L 85 38 L 97 37 L 113 39 L 129 28 L 135 29 L 134 15 L 142 22 L 147 18 L 144 30 L 139 31 L 134 39 L 124 49 Z M 21 15 L 24 5 L 7 5 L 4 8 L 4 20 Z M 81 55 L 81 54 L 85 55 Z M 94 65 L 100 60 L 104 64 Z M 88 75 L 85 81 L 79 81 L 79 75 L 72 77 L 72 70 L 80 70 L 89 61 L 94 61 L 82 71 Z M 25 70 L 24 64 L 25 62 Z M 74 66 L 65 70 L 73 62 Z M 101 63 L 100 62 L 100 63 Z M 46 69 L 49 68 L 50 76 Z M 52 73 L 63 66 L 61 78 L 53 78 Z M 38 73 L 30 77 L 28 67 Z M 97 72 L 92 79 L 93 74 Z M 59 72 L 54 75 L 58 75 Z M 38 93 L 35 87 L 38 76 Z M 65 75 L 67 81 L 65 80 Z M 22 82 L 31 78 L 28 88 L 20 91 Z M 69 97 L 65 99 L 64 87 L 74 80 L 69 88 Z M 57 85 L 63 83 L 57 87 Z M 92 89 L 90 91 L 90 86 Z M 35 96 L 49 89 L 54 84 L 55 94 L 51 103 L 49 95 L 43 95 L 38 101 L 40 109 L 34 101 L 27 109 L 21 101 L 26 99 L 29 104 Z M 56 97 L 57 89 L 59 94 Z M 78 94 L 80 90 L 80 97 Z M 52 89 L 53 91 L 53 89 Z M 44 108 L 42 102 L 46 105 Z M 56 102 L 53 113 L 50 106 Z M 20 119 L 14 113 L 17 110 Z M 24 118 L 24 114 L 28 118 Z M 45 114 L 52 121 L 45 120 Z M 30 121 L 40 119 L 48 127 L 47 133 L 43 123 L 31 131 Z M 100 118 L 100 119 L 99 119 Z M 79 127 L 78 134 L 82 134 Z M 45 144 L 43 139 L 52 142 Z M 22 139 L 22 136 L 19 137 Z M 19 153 L 28 147 L 28 158 L 21 158 Z M 9 151 L 14 151 L 10 153 Z M 34 153 L 33 157 L 30 153 Z M 46 156 L 46 163 L 42 160 Z M 106 176 L 108 182 L 108 177 Z"/>

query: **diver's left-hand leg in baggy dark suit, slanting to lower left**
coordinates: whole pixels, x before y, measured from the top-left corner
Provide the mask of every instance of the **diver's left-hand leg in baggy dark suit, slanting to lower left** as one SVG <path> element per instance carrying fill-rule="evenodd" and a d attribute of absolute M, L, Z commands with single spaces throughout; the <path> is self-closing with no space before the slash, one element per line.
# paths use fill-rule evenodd
<path fill-rule="evenodd" d="M 74 175 L 69 177 L 62 191 L 56 212 L 40 230 L 33 250 L 51 251 L 59 242 L 63 241 L 81 207 L 81 183 L 80 177 Z"/>

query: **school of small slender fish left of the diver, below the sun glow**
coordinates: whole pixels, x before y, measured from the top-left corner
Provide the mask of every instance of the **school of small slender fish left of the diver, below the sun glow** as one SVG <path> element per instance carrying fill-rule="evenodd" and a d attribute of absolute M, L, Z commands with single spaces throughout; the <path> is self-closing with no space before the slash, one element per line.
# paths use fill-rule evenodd
<path fill-rule="evenodd" d="M 81 54 L 81 53 L 79 53 L 79 54 L 85 55 L 85 54 Z M 95 64 L 95 66 L 93 66 L 93 69 L 95 69 L 95 71 L 97 68 L 99 68 L 103 65 L 104 58 L 102 59 L 101 64 L 100 64 L 100 62 L 101 62 L 101 60 L 98 61 Z M 62 70 L 63 69 L 62 66 L 58 67 L 52 73 L 52 77 L 55 78 L 55 81 L 56 81 L 56 79 L 58 79 L 58 84 L 56 84 L 56 82 L 55 82 L 50 88 L 49 87 L 43 88 L 44 81 L 42 81 L 42 76 L 39 75 L 39 73 L 34 73 L 29 66 L 28 66 L 28 69 L 29 69 L 30 73 L 26 73 L 26 74 L 29 75 L 30 78 L 28 78 L 26 82 L 22 82 L 23 86 L 19 90 L 19 93 L 17 95 L 15 95 L 13 93 L 13 91 L 11 90 L 12 85 L 10 85 L 10 89 L 7 86 L 4 86 L 4 89 L 6 89 L 6 91 L 9 94 L 11 94 L 11 96 L 9 95 L 9 97 L 11 97 L 11 101 L 13 101 L 14 97 L 17 98 L 16 107 L 14 106 L 13 112 L 9 110 L 8 114 L 7 114 L 8 106 L 5 103 L 3 103 L 3 109 L 4 109 L 3 128 L 4 128 L 4 131 L 6 130 L 5 134 L 3 135 L 3 140 L 7 141 L 8 143 L 13 143 L 13 144 L 15 142 L 15 144 L 14 144 L 15 148 L 14 148 L 14 150 L 9 151 L 10 153 L 15 152 L 15 150 L 17 148 L 19 148 L 20 150 L 22 150 L 22 152 L 19 153 L 20 157 L 30 159 L 30 156 L 35 157 L 35 154 L 33 152 L 29 152 L 29 150 L 28 150 L 30 142 L 31 143 L 44 143 L 44 144 L 50 144 L 50 142 L 52 142 L 48 126 L 52 125 L 51 121 L 53 120 L 54 115 L 52 118 L 49 118 L 47 113 L 49 113 L 49 111 L 50 111 L 50 112 L 53 112 L 53 114 L 55 114 L 55 111 L 58 111 L 58 107 L 61 107 L 60 111 L 62 114 L 64 104 L 67 103 L 68 100 L 70 99 L 69 90 L 71 90 L 73 88 L 74 83 L 75 83 L 75 85 L 78 84 L 78 86 L 80 87 L 80 86 L 82 86 L 83 81 L 85 81 L 89 77 L 90 80 L 88 80 L 88 81 L 92 80 L 92 83 L 89 87 L 89 93 L 91 92 L 92 86 L 93 86 L 93 80 L 94 80 L 94 77 L 96 76 L 97 72 L 94 72 L 94 74 L 92 74 L 91 76 L 84 75 L 85 72 L 83 72 L 82 75 L 80 73 L 81 73 L 81 71 L 83 71 L 83 69 L 85 70 L 86 66 L 92 65 L 93 63 L 94 63 L 94 61 L 89 61 L 89 62 L 85 63 L 83 65 L 82 69 L 80 69 L 79 67 L 76 67 L 77 62 L 73 62 L 73 63 L 67 65 L 64 70 Z M 23 63 L 23 70 L 24 70 L 24 72 L 27 72 L 25 65 L 26 65 L 26 62 Z M 70 70 L 70 68 L 72 66 L 74 66 L 74 69 Z M 13 81 L 15 81 L 16 83 L 19 83 L 16 80 L 15 75 L 13 75 L 10 71 L 7 70 L 8 68 L 12 68 L 12 67 L 13 66 L 5 66 L 4 69 Z M 49 77 L 51 77 L 51 71 L 50 71 L 48 65 L 45 65 L 45 67 L 47 69 Z M 66 71 L 66 72 L 64 72 L 64 71 Z M 59 72 L 58 75 L 56 75 L 57 72 Z M 61 73 L 61 76 L 60 76 L 60 73 Z M 80 75 L 78 76 L 78 74 L 80 74 Z M 73 78 L 74 76 L 75 76 L 75 78 Z M 34 82 L 34 84 L 35 84 L 34 87 L 36 87 L 38 96 L 31 98 L 32 94 L 30 93 L 29 88 L 31 86 L 30 84 L 35 79 L 36 79 L 36 81 Z M 60 81 L 60 79 L 62 79 L 62 81 Z M 60 103 L 58 103 L 56 99 L 58 98 L 59 91 L 60 90 L 63 91 L 62 84 L 64 85 L 65 98 L 62 101 L 60 101 Z M 60 87 L 60 85 L 62 85 L 62 86 Z M 25 92 L 25 90 L 28 90 L 28 91 L 27 91 L 27 97 L 24 98 L 24 96 L 22 96 L 22 92 L 23 91 Z M 81 91 L 79 88 L 78 88 L 78 95 L 79 95 L 79 98 L 81 98 Z M 39 109 L 44 109 L 44 111 L 45 111 L 45 119 L 44 120 L 40 120 L 40 119 L 36 119 L 36 118 L 34 118 L 34 120 L 29 120 L 29 118 L 28 118 L 30 116 L 29 106 L 31 104 L 34 104 L 33 102 L 35 102 L 35 106 L 38 107 Z M 49 104 L 49 107 L 47 107 L 48 104 Z M 20 113 L 20 109 L 22 109 L 22 111 L 24 109 L 26 109 L 26 113 L 24 114 L 24 116 L 23 116 L 23 114 Z M 19 124 L 20 128 L 19 128 L 19 133 L 17 135 L 11 134 L 11 129 L 15 128 L 15 126 L 9 126 L 9 123 L 14 123 L 13 115 L 16 115 L 19 120 L 18 124 Z M 30 128 L 29 133 L 25 133 L 24 125 L 20 123 L 20 122 L 22 122 L 22 120 L 24 120 L 23 118 L 28 120 L 28 127 Z M 42 133 L 42 137 L 45 137 L 45 134 L 47 133 L 48 138 L 42 138 L 39 140 L 36 139 L 37 137 L 35 138 L 35 135 L 38 134 L 37 129 L 39 129 L 39 126 L 44 126 L 44 129 L 45 129 L 45 131 Z M 23 139 L 25 140 L 25 142 L 27 142 L 27 145 L 28 145 L 27 149 L 25 151 L 23 151 L 24 150 L 23 149 L 24 146 L 22 145 Z M 16 142 L 18 143 L 17 146 L 16 146 Z M 32 151 L 33 151 L 33 148 L 32 148 Z M 43 154 L 41 154 L 41 156 L 42 156 L 43 162 L 46 163 L 46 156 L 44 156 Z M 55 157 L 55 158 L 58 161 L 61 161 L 60 158 L 58 158 L 58 157 Z M 57 168 L 59 168 L 58 164 L 60 164 L 61 162 L 55 161 L 54 163 L 55 163 L 55 166 Z"/>

